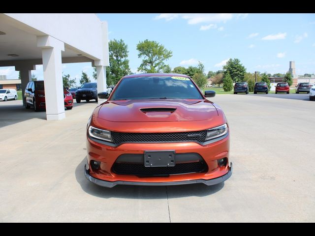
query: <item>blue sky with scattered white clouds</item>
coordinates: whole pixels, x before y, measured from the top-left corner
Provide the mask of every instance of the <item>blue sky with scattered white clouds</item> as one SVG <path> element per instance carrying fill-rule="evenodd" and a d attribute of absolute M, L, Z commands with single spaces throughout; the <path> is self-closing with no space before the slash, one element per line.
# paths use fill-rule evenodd
<path fill-rule="evenodd" d="M 102 13 L 109 40 L 123 39 L 128 45 L 129 65 L 134 73 L 141 63 L 136 45 L 155 40 L 173 52 L 166 61 L 176 66 L 221 70 L 230 58 L 238 58 L 248 72 L 285 73 L 295 61 L 296 73 L 315 73 L 315 14 L 217 14 L 217 13 Z M 42 65 L 32 73 L 43 79 Z M 63 64 L 63 74 L 81 77 L 85 71 L 92 81 L 90 62 Z M 0 67 L 0 75 L 16 79 L 14 67 Z M 79 84 L 79 83 L 78 83 Z"/>

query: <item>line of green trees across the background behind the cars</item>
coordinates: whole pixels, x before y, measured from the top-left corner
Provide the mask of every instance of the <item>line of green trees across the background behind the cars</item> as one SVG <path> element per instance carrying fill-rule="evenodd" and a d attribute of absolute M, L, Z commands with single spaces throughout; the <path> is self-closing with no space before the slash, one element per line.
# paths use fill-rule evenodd
<path fill-rule="evenodd" d="M 126 76 L 133 74 L 129 67 L 128 58 L 128 46 L 120 39 L 110 40 L 109 46 L 109 67 L 106 67 L 107 85 L 116 85 L 118 81 Z M 186 74 L 194 80 L 199 88 L 203 88 L 208 79 L 212 80 L 212 84 L 223 85 L 225 91 L 233 89 L 233 83 L 247 82 L 250 91 L 253 90 L 255 83 L 255 74 L 246 71 L 244 65 L 241 64 L 239 59 L 229 59 L 223 66 L 222 70 L 217 72 L 209 71 L 205 73 L 205 67 L 202 62 L 199 61 L 197 66 L 189 66 L 188 68 L 183 66 L 177 66 L 171 68 L 165 62 L 173 56 L 171 50 L 168 50 L 164 45 L 157 41 L 150 41 L 148 39 L 140 41 L 137 46 L 138 58 L 142 59 L 141 64 L 137 68 L 138 71 L 143 73 L 178 73 Z M 266 82 L 270 88 L 269 77 L 281 77 L 284 76 L 284 80 L 292 85 L 292 78 L 290 73 L 274 75 L 267 74 L 267 72 L 256 72 L 257 82 Z M 96 80 L 96 69 L 94 67 L 93 78 Z M 82 71 L 80 84 L 91 82 L 88 75 Z M 65 87 L 76 86 L 76 80 L 70 79 L 69 74 L 63 75 L 63 85 Z"/>

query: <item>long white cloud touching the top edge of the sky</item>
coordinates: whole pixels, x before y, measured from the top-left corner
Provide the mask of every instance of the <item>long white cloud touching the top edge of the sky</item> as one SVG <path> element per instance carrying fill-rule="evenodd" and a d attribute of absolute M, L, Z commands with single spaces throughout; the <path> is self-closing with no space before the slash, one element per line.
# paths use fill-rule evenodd
<path fill-rule="evenodd" d="M 233 18 L 231 13 L 162 13 L 156 16 L 154 19 L 165 19 L 166 21 L 174 20 L 176 18 L 182 18 L 187 20 L 189 25 L 195 25 L 200 23 L 219 23 L 226 22 Z M 243 17 L 244 18 L 244 17 Z"/>

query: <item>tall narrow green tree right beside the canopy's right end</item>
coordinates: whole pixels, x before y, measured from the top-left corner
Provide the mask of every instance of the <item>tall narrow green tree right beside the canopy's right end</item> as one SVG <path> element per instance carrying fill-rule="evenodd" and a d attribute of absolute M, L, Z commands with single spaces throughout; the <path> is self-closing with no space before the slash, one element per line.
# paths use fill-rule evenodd
<path fill-rule="evenodd" d="M 106 77 L 108 85 L 116 85 L 125 75 L 131 74 L 128 58 L 128 45 L 123 39 L 110 40 L 109 49 L 109 67 L 106 68 Z"/>

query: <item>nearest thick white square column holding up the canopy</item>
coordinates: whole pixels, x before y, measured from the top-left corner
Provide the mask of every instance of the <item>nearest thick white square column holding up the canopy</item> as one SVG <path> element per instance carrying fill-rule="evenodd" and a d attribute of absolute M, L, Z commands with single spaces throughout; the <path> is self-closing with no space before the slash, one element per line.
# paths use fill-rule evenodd
<path fill-rule="evenodd" d="M 47 120 L 65 118 L 63 101 L 62 41 L 52 36 L 37 36 L 37 47 L 42 48 Z"/>

